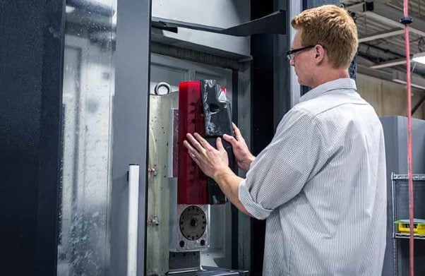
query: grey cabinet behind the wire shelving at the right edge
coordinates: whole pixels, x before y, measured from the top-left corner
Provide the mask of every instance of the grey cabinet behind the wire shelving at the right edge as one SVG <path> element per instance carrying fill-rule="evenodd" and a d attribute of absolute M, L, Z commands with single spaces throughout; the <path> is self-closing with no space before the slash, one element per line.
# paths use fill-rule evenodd
<path fill-rule="evenodd" d="M 385 160 L 387 166 L 387 246 L 385 248 L 385 257 L 383 263 L 383 276 L 387 275 L 409 275 L 409 240 L 399 239 L 397 241 L 397 252 L 394 252 L 393 244 L 393 200 L 391 193 L 391 173 L 407 174 L 407 117 L 387 116 L 381 117 L 385 138 Z M 425 173 L 425 121 L 412 119 L 412 153 L 413 153 L 413 173 Z M 400 189 L 399 189 L 400 188 Z M 399 184 L 395 191 L 397 196 L 397 214 L 402 218 L 408 218 L 409 200 L 407 197 L 407 183 Z M 415 218 L 424 214 L 423 205 L 424 187 L 414 187 L 414 211 Z M 401 217 L 400 217 L 401 218 Z M 425 256 L 425 241 L 414 241 L 414 258 L 421 260 Z M 397 256 L 397 274 L 393 274 L 395 267 L 394 253 Z M 415 263 L 415 275 L 424 275 L 425 265 L 420 261 Z"/>

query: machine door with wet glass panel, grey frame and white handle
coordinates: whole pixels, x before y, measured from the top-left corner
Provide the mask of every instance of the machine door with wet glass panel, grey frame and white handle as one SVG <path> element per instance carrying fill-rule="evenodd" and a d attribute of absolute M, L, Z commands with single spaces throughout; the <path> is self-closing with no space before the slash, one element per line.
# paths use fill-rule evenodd
<path fill-rule="evenodd" d="M 66 1 L 59 276 L 144 274 L 149 26 L 150 1 Z"/>

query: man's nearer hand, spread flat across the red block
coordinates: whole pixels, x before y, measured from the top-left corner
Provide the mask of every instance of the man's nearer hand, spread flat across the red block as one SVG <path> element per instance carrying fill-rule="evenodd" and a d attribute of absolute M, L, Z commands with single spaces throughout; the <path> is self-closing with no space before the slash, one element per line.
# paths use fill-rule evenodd
<path fill-rule="evenodd" d="M 187 140 L 183 144 L 187 148 L 189 156 L 198 164 L 204 174 L 215 179 L 217 174 L 227 172 L 229 169 L 229 158 L 223 147 L 222 140 L 217 138 L 217 150 L 202 138 L 198 133 L 193 136 L 186 134 Z"/>

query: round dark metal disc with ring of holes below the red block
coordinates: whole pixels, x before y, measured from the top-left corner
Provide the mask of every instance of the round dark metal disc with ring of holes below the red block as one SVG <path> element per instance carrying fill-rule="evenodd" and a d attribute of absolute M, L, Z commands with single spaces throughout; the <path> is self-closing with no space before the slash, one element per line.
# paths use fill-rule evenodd
<path fill-rule="evenodd" d="M 205 212 L 198 206 L 188 206 L 181 212 L 179 225 L 180 232 L 186 239 L 190 241 L 199 239 L 207 227 Z"/>

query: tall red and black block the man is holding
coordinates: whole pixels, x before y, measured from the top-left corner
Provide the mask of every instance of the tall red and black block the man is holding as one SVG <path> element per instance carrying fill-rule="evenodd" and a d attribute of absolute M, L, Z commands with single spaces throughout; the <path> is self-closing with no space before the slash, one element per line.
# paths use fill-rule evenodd
<path fill-rule="evenodd" d="M 183 141 L 186 133 L 197 132 L 215 147 L 217 137 L 233 135 L 232 112 L 225 88 L 216 80 L 186 81 L 179 84 L 179 174 L 177 204 L 223 204 L 227 199 L 213 179 L 192 161 Z M 223 140 L 234 169 L 232 145 Z"/>

